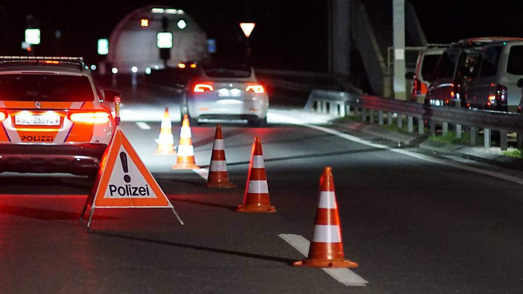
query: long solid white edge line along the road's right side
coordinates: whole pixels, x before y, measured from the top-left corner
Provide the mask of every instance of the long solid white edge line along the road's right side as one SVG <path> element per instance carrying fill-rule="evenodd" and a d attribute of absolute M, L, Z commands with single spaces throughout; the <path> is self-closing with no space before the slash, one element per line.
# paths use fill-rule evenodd
<path fill-rule="evenodd" d="M 283 116 L 277 115 L 277 114 L 273 114 L 273 115 L 283 117 Z M 442 165 L 447 165 L 447 166 L 451 166 L 451 167 L 454 167 L 454 168 L 460 168 L 460 169 L 464 169 L 465 171 L 479 173 L 479 174 L 483 174 L 483 175 L 487 175 L 487 176 L 493 176 L 493 177 L 496 177 L 496 178 L 501 178 L 501 179 L 508 180 L 509 182 L 513 182 L 513 183 L 516 183 L 516 184 L 523 185 L 523 179 L 519 178 L 519 177 L 516 177 L 516 176 L 510 176 L 510 175 L 506 175 L 506 174 L 503 174 L 503 173 L 487 171 L 485 169 L 476 168 L 476 167 L 472 167 L 472 166 L 468 166 L 468 165 L 463 165 L 463 164 L 459 164 L 459 163 L 451 162 L 451 161 L 447 161 L 447 160 L 436 159 L 434 157 L 430 157 L 430 156 L 423 155 L 423 154 L 418 154 L 418 153 L 415 153 L 415 152 L 412 152 L 412 151 L 408 151 L 408 150 L 393 149 L 393 148 L 391 148 L 389 146 L 372 143 L 370 141 L 363 140 L 363 139 L 360 139 L 358 137 L 354 137 L 353 135 L 349 135 L 349 134 L 346 134 L 346 133 L 338 132 L 336 130 L 331 130 L 331 129 L 320 127 L 320 126 L 309 125 L 308 123 L 303 123 L 303 122 L 300 122 L 300 121 L 297 121 L 297 120 L 294 120 L 294 119 L 291 119 L 291 118 L 285 118 L 285 119 L 286 119 L 287 122 L 292 123 L 293 125 L 299 125 L 299 126 L 303 126 L 303 127 L 308 127 L 308 128 L 311 128 L 311 129 L 315 129 L 315 130 L 318 130 L 318 131 L 325 132 L 325 133 L 333 134 L 333 135 L 335 135 L 335 136 L 337 136 L 339 138 L 343 138 L 343 139 L 346 139 L 346 140 L 349 140 L 349 141 L 353 141 L 353 142 L 356 142 L 356 143 L 360 143 L 360 144 L 363 144 L 363 145 L 371 146 L 371 147 L 374 147 L 374 148 L 385 149 L 385 150 L 389 150 L 389 151 L 392 151 L 392 152 L 400 153 L 400 154 L 403 154 L 403 155 L 416 157 L 417 159 L 420 159 L 420 160 L 433 162 L 433 163 L 438 163 L 438 164 L 442 164 Z"/>

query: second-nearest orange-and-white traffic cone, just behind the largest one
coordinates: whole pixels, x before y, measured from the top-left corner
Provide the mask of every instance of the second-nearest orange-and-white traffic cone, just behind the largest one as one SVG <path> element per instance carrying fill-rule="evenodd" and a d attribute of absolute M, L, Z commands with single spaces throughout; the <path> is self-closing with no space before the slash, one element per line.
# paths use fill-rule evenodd
<path fill-rule="evenodd" d="M 245 187 L 243 206 L 239 206 L 236 211 L 276 212 L 276 208 L 270 205 L 269 188 L 267 186 L 267 176 L 265 174 L 265 163 L 259 137 L 254 138 L 251 165 L 249 165 L 249 175 L 247 176 L 247 187 Z"/>

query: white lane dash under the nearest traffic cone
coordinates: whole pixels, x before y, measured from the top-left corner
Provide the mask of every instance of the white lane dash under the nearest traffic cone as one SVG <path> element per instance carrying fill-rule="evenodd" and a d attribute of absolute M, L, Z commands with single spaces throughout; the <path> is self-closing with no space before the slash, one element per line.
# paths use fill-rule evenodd
<path fill-rule="evenodd" d="M 279 234 L 280 238 L 289 243 L 295 250 L 298 250 L 303 256 L 307 256 L 309 253 L 309 246 L 311 242 L 305 239 L 302 235 L 293 234 Z M 322 268 L 325 273 L 331 275 L 338 282 L 345 286 L 359 286 L 365 287 L 368 283 L 362 277 L 356 275 L 352 270 L 348 268 Z"/>

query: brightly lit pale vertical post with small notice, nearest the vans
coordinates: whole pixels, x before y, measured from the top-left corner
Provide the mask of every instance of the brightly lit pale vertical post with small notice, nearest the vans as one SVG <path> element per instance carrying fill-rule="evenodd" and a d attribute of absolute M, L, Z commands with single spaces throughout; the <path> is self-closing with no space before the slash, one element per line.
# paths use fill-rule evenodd
<path fill-rule="evenodd" d="M 394 43 L 394 98 L 406 99 L 405 92 L 405 0 L 392 0 Z"/>

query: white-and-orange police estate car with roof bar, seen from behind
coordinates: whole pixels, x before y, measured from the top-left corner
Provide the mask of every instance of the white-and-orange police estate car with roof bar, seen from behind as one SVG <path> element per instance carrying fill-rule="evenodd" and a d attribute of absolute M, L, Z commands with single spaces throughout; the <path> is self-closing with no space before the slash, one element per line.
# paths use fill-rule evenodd
<path fill-rule="evenodd" d="M 117 96 L 82 58 L 0 56 L 0 172 L 95 174 Z"/>

